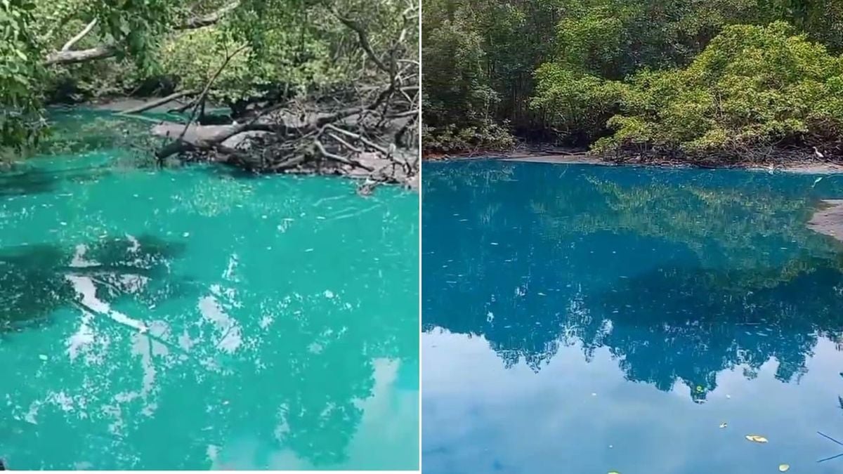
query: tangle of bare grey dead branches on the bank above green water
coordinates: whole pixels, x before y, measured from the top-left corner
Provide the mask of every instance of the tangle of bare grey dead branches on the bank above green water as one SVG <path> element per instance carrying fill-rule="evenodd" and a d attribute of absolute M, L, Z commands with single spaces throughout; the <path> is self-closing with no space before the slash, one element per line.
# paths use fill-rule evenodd
<path fill-rule="evenodd" d="M 165 139 L 156 152 L 159 163 L 180 154 L 188 160 L 222 162 L 255 172 L 345 175 L 362 180 L 358 187 L 362 195 L 379 183 L 417 186 L 420 71 L 419 62 L 405 57 L 417 51 L 417 46 L 405 45 L 407 30 L 417 25 L 417 7 L 408 6 L 404 29 L 380 54 L 362 26 L 334 14 L 355 31 L 381 83 L 335 91 L 328 97 L 333 99 L 331 105 L 325 105 L 329 103 L 325 97 L 282 96 L 230 125 L 196 124 L 197 110 L 228 61 L 223 62 L 201 94 L 183 107 L 183 111 L 192 108 L 186 124 L 161 122 L 153 127 L 153 135 Z"/>

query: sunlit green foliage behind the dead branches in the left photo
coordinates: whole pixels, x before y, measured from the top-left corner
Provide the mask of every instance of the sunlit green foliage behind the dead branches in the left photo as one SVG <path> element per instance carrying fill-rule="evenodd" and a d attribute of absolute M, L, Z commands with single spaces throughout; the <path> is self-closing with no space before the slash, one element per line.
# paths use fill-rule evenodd
<path fill-rule="evenodd" d="M 209 90 L 223 105 L 310 94 L 352 83 L 384 83 L 357 32 L 376 54 L 404 30 L 417 44 L 410 3 L 394 0 L 0 0 L 0 146 L 34 142 L 50 101 L 201 90 L 231 58 Z M 191 19 L 219 19 L 201 28 Z M 336 12 L 336 13 L 335 13 Z M 195 23 L 193 23 L 195 25 Z M 86 27 L 91 25 L 91 29 Z M 87 31 L 87 34 L 80 35 Z M 46 66 L 68 40 L 71 51 L 99 48 L 109 57 Z M 245 47 L 244 47 L 245 46 Z M 415 54 L 409 57 L 416 57 Z"/>

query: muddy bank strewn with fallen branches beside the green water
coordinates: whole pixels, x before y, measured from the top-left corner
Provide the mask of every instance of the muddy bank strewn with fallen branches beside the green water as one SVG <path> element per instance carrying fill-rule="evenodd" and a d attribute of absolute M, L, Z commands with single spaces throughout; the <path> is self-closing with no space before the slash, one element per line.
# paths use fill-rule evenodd
<path fill-rule="evenodd" d="M 411 117 L 399 117 L 385 125 L 373 126 L 365 123 L 367 117 L 356 113 L 321 129 L 309 130 L 313 128 L 309 127 L 309 122 L 298 124 L 298 128 L 311 135 L 325 134 L 321 141 L 313 139 L 311 145 L 307 141 L 311 137 L 308 133 L 295 137 L 277 136 L 278 123 L 287 129 L 297 125 L 293 119 L 298 117 L 283 110 L 246 123 L 193 123 L 185 127 L 184 114 L 168 114 L 177 104 L 155 105 L 157 102 L 160 99 L 156 97 L 111 98 L 62 109 L 96 110 L 113 113 L 120 119 L 149 121 L 153 124 L 149 128 L 150 137 L 162 139 L 160 146 L 153 150 L 162 164 L 172 162 L 169 158 L 177 156 L 179 162 L 226 164 L 255 174 L 341 176 L 356 180 L 361 195 L 370 194 L 374 187 L 382 184 L 400 185 L 411 191 L 419 188 L 417 151 L 393 144 L 395 137 L 411 134 L 407 131 L 412 127 Z M 315 109 L 314 105 L 314 113 L 307 116 L 314 123 L 321 123 L 325 116 L 336 113 Z M 142 113 L 135 113 L 137 110 Z M 217 106 L 209 110 L 228 112 L 227 108 Z"/>

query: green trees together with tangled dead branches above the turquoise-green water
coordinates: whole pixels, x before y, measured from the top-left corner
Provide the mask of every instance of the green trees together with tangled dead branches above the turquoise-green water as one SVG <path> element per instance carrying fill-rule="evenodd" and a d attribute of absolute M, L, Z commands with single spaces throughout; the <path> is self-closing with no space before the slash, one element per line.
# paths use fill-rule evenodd
<path fill-rule="evenodd" d="M 32 148 L 53 103 L 160 97 L 180 101 L 171 107 L 188 123 L 153 131 L 176 138 L 159 159 L 212 153 L 265 170 L 318 161 L 373 172 L 357 155 L 395 165 L 390 150 L 414 143 L 417 23 L 404 0 L 3 0 L 0 148 Z M 210 123 L 229 127 L 209 134 Z M 238 135 L 260 135 L 266 153 L 223 146 Z"/>

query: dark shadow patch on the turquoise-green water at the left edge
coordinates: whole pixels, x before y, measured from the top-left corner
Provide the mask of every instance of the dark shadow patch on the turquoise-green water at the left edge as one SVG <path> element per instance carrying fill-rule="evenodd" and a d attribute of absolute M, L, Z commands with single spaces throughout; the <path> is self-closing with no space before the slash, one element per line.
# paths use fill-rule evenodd
<path fill-rule="evenodd" d="M 184 245 L 150 235 L 113 238 L 67 249 L 20 245 L 0 249 L 0 334 L 49 324 L 62 307 L 78 304 L 73 277 L 93 283 L 105 302 L 132 298 L 143 304 L 184 294 L 191 288 L 174 277 L 169 262 Z"/>

